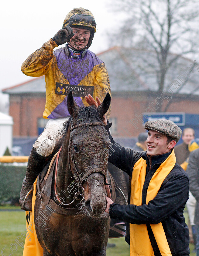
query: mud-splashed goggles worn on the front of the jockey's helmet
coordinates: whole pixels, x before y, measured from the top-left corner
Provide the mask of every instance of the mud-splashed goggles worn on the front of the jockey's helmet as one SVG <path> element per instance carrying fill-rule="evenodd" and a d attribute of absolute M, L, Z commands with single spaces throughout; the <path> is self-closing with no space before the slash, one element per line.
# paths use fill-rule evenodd
<path fill-rule="evenodd" d="M 67 20 L 65 23 L 63 23 L 63 27 L 70 21 L 73 21 L 74 23 L 80 23 L 79 25 L 82 25 L 82 26 L 91 27 L 96 31 L 96 23 L 95 23 L 93 16 L 91 16 L 91 15 L 74 14 L 70 17 L 69 20 Z M 76 25 L 76 24 L 74 24 L 74 25 Z"/>

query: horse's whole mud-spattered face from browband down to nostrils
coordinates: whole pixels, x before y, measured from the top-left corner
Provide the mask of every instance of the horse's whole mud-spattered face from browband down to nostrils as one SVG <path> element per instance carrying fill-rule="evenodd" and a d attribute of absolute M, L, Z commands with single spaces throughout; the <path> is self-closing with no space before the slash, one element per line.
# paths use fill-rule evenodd
<path fill-rule="evenodd" d="M 74 162 L 71 166 L 77 170 L 84 187 L 81 213 L 94 218 L 102 217 L 107 205 L 104 182 L 109 144 L 103 126 L 76 128 L 71 132 L 70 150 Z"/>

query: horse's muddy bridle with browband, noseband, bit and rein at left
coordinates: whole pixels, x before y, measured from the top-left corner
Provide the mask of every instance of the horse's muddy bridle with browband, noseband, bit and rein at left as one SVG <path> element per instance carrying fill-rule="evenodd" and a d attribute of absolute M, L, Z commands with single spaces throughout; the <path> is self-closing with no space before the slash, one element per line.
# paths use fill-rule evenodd
<path fill-rule="evenodd" d="M 88 178 L 88 176 L 90 176 L 92 173 L 94 173 L 94 172 L 100 172 L 101 174 L 104 175 L 105 180 L 106 180 L 106 170 L 103 170 L 103 171 L 102 171 L 102 170 L 99 169 L 99 168 L 95 168 L 95 169 L 89 170 L 89 172 L 87 172 L 87 174 L 84 175 L 84 179 L 82 179 L 81 174 L 83 174 L 83 173 L 79 173 L 79 172 L 77 171 L 76 166 L 75 166 L 74 156 L 73 156 L 73 148 L 72 148 L 72 143 L 71 143 L 71 139 L 72 139 L 72 137 L 71 137 L 71 131 L 72 131 L 72 130 L 74 130 L 74 129 L 76 129 L 76 128 L 79 128 L 79 127 L 82 127 L 82 126 L 85 126 L 85 127 L 86 127 L 86 126 L 99 126 L 99 125 L 104 126 L 103 123 L 96 122 L 96 123 L 84 123 L 84 124 L 81 123 L 81 124 L 74 125 L 74 126 L 72 126 L 72 127 L 70 128 L 70 139 L 69 139 L 69 148 L 68 148 L 69 169 L 70 169 L 70 171 L 72 172 L 72 174 L 74 175 L 75 180 L 76 180 L 76 179 L 79 180 L 80 185 L 78 186 L 78 191 L 74 194 L 73 201 L 70 202 L 69 204 L 64 204 L 64 203 L 59 199 L 59 197 L 58 197 L 58 195 L 57 195 L 57 188 L 56 188 L 57 167 L 58 167 L 58 160 L 59 160 L 60 151 L 61 151 L 62 148 L 60 148 L 60 150 L 58 151 L 57 158 L 56 158 L 56 165 L 55 165 L 55 182 L 54 182 L 55 184 L 54 184 L 54 190 L 55 190 L 55 196 L 56 196 L 57 200 L 58 200 L 59 203 L 62 204 L 62 205 L 66 205 L 66 206 L 67 206 L 67 205 L 70 205 L 70 204 L 74 203 L 75 200 L 80 200 L 81 197 L 82 197 L 82 199 L 81 199 L 80 203 L 82 203 L 82 202 L 84 201 L 84 187 L 82 186 L 82 183 L 83 183 L 84 181 L 86 181 L 87 178 Z M 71 167 L 72 167 L 72 168 L 71 168 Z M 80 189 L 81 189 L 81 190 L 80 190 Z M 82 193 L 82 194 L 81 194 L 81 193 Z"/>

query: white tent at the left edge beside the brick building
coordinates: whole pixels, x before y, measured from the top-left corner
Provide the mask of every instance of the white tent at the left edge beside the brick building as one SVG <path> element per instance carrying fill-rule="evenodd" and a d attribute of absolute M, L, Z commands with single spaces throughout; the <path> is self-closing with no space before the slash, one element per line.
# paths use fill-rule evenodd
<path fill-rule="evenodd" d="M 6 148 L 12 153 L 12 116 L 0 112 L 0 156 L 4 155 Z"/>

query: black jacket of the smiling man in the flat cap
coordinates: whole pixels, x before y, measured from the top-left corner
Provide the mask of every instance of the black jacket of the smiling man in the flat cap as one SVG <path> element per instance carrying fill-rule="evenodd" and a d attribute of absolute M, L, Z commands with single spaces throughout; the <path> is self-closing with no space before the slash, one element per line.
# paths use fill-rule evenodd
<path fill-rule="evenodd" d="M 160 164 L 170 155 L 156 155 L 148 158 L 146 151 L 135 151 L 115 143 L 109 133 L 111 147 L 109 162 L 129 174 L 129 205 L 111 204 L 109 214 L 112 219 L 120 219 L 132 224 L 146 224 L 155 256 L 160 255 L 151 224 L 162 222 L 164 232 L 172 255 L 189 254 L 189 230 L 183 215 L 189 197 L 189 180 L 187 174 L 177 163 L 166 176 L 157 196 L 146 204 L 146 192 L 149 182 Z M 142 190 L 142 205 L 130 204 L 131 177 L 134 164 L 143 158 L 147 163 L 147 174 Z M 149 170 L 150 167 L 150 170 Z M 129 225 L 125 240 L 129 244 Z"/>

